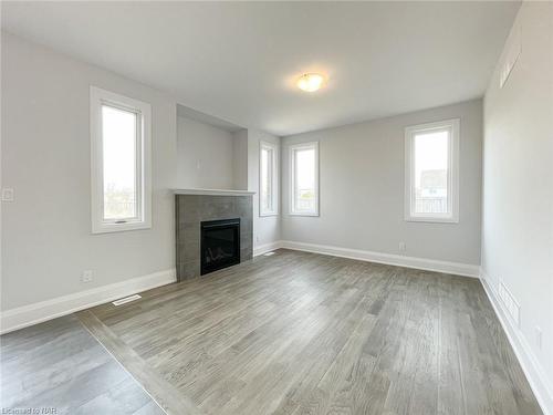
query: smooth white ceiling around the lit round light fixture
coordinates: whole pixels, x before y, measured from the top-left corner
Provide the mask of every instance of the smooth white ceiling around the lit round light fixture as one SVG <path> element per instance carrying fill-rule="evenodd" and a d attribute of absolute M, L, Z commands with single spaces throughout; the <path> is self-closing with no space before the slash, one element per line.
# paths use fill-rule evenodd
<path fill-rule="evenodd" d="M 520 2 L 2 2 L 2 28 L 290 135 L 482 96 Z M 322 72 L 327 86 L 294 81 Z"/>

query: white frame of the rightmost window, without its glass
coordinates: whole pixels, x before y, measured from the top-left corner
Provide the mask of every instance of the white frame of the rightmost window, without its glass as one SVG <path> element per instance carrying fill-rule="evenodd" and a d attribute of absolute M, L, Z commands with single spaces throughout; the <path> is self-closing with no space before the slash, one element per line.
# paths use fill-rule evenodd
<path fill-rule="evenodd" d="M 405 128 L 405 220 L 422 222 L 459 222 L 459 128 L 460 120 L 411 125 Z M 420 133 L 449 131 L 448 212 L 415 212 L 415 136 Z"/>

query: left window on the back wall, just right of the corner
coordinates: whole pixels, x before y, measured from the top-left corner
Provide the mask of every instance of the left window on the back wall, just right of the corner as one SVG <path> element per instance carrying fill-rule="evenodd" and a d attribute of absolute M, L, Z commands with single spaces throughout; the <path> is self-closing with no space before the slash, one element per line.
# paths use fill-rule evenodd
<path fill-rule="evenodd" d="M 319 216 L 319 143 L 290 147 L 290 214 Z"/>

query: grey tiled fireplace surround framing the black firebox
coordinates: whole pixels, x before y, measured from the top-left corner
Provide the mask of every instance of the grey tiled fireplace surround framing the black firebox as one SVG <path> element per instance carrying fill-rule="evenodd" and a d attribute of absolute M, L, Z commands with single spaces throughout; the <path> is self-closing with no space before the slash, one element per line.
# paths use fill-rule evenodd
<path fill-rule="evenodd" d="M 175 195 L 177 280 L 200 274 L 200 224 L 205 220 L 240 218 L 240 261 L 252 258 L 252 196 Z"/>

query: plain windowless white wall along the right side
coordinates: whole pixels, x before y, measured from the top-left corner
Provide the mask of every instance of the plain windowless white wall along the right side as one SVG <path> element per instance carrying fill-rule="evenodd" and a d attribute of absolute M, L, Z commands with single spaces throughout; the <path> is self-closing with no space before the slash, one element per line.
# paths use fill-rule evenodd
<path fill-rule="evenodd" d="M 521 33 L 503 89 L 499 72 Z M 553 3 L 524 2 L 486 93 L 482 269 L 521 307 L 520 331 L 553 414 Z M 543 331 L 542 347 L 535 328 Z M 531 360 L 534 357 L 531 357 Z"/>

